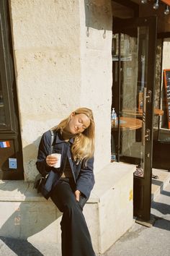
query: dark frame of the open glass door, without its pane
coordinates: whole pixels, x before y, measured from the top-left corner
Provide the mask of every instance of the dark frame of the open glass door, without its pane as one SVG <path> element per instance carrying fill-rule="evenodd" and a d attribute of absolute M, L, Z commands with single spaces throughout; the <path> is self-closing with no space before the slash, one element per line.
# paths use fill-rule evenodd
<path fill-rule="evenodd" d="M 146 129 L 150 129 L 150 140 L 146 141 L 145 146 L 145 175 L 144 177 L 134 176 L 134 216 L 145 221 L 150 219 L 151 215 L 151 177 L 152 177 L 152 150 L 153 150 L 153 101 L 154 101 L 154 81 L 155 81 L 155 64 L 156 64 L 156 32 L 157 18 L 133 18 L 113 20 L 113 33 L 125 33 L 126 28 L 135 28 L 138 26 L 148 27 L 148 73 L 147 73 L 147 90 L 151 90 L 151 103 L 146 103 Z M 120 67 L 120 61 L 118 63 Z M 118 106 L 116 108 L 119 116 L 120 112 L 120 70 L 118 73 L 117 93 L 119 93 Z M 147 117 L 148 116 L 148 117 Z M 150 116 L 150 118 L 149 118 Z M 120 136 L 120 132 L 119 135 Z M 118 141 L 120 142 L 120 140 Z M 120 148 L 120 145 L 117 147 Z M 118 158 L 119 160 L 119 158 Z"/>

